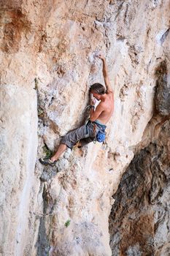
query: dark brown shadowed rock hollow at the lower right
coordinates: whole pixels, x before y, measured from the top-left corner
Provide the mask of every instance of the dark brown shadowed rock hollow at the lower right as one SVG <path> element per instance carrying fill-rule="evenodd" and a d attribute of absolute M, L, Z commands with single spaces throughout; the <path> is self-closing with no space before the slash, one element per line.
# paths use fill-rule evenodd
<path fill-rule="evenodd" d="M 169 127 L 165 121 L 121 178 L 109 219 L 112 255 L 169 255 Z"/>

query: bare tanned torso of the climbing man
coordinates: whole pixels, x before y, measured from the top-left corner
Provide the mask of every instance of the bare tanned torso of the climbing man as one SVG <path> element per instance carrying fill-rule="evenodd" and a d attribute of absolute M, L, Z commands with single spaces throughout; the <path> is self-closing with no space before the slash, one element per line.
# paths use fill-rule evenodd
<path fill-rule="evenodd" d="M 103 111 L 97 118 L 97 120 L 101 121 L 102 124 L 107 124 L 107 122 L 111 118 L 113 110 L 114 110 L 114 94 L 113 94 L 113 92 L 109 92 L 106 95 L 107 95 L 106 99 L 104 101 L 101 101 L 98 104 L 98 107 L 100 105 L 100 107 L 103 108 Z"/>

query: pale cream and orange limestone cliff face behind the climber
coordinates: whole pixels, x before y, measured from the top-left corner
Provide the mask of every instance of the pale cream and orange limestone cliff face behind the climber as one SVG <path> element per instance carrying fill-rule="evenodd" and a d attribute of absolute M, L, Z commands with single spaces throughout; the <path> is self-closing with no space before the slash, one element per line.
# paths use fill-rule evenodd
<path fill-rule="evenodd" d="M 169 1 L 2 0 L 0 50 L 1 255 L 112 255 L 112 195 L 149 141 L 156 86 L 155 123 L 168 118 Z M 104 83 L 99 51 L 115 91 L 107 144 L 43 167 Z"/>

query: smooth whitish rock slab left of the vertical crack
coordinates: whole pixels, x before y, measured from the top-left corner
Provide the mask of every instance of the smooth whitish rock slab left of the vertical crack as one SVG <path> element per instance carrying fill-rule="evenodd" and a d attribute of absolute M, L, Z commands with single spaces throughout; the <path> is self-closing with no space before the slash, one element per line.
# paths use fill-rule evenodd
<path fill-rule="evenodd" d="M 29 240 L 30 193 L 37 182 L 34 177 L 37 151 L 36 92 L 4 85 L 0 95 L 0 252 L 1 255 L 23 255 Z"/>

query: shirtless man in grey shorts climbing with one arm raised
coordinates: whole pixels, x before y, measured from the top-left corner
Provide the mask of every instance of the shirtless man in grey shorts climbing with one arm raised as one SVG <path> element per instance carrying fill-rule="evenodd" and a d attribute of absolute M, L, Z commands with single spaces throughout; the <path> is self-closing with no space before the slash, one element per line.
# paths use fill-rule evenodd
<path fill-rule="evenodd" d="M 63 136 L 58 150 L 53 157 L 50 159 L 39 159 L 39 162 L 41 162 L 43 165 L 55 165 L 55 162 L 67 147 L 72 149 L 77 141 L 79 141 L 78 147 L 85 146 L 94 140 L 100 129 L 103 131 L 106 129 L 105 124 L 107 124 L 109 118 L 111 118 L 114 110 L 114 94 L 109 82 L 107 65 L 104 56 L 98 55 L 98 58 L 103 62 L 104 83 L 107 90 L 101 85 L 101 83 L 94 83 L 92 86 L 90 86 L 90 93 L 93 94 L 93 97 L 101 102 L 98 104 L 95 110 L 95 102 L 93 102 L 93 99 L 90 99 L 90 119 L 88 124 L 74 129 L 72 132 L 69 132 Z"/>

